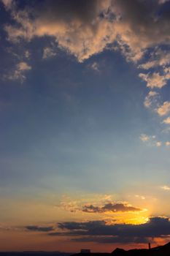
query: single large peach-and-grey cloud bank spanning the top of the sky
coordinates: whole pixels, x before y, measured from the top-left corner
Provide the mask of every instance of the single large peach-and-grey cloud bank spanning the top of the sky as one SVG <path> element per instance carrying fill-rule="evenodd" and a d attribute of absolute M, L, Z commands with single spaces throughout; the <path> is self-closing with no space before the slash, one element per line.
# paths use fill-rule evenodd
<path fill-rule="evenodd" d="M 45 0 L 34 10 L 30 6 L 20 10 L 17 1 L 3 2 L 15 21 L 4 26 L 9 40 L 53 37 L 78 61 L 116 43 L 126 59 L 136 62 L 147 48 L 169 44 L 169 13 L 158 15 L 157 1 Z"/>

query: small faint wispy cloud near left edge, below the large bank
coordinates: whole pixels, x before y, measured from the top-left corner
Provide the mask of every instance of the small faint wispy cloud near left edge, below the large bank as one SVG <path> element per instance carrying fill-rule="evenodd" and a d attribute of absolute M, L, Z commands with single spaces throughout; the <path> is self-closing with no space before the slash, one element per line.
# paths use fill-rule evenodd
<path fill-rule="evenodd" d="M 23 83 L 23 81 L 26 80 L 25 73 L 30 69 L 31 66 L 29 66 L 26 62 L 21 61 L 15 66 L 15 69 L 13 69 L 7 75 L 4 75 L 4 78 L 9 80 L 20 80 L 20 83 Z"/>

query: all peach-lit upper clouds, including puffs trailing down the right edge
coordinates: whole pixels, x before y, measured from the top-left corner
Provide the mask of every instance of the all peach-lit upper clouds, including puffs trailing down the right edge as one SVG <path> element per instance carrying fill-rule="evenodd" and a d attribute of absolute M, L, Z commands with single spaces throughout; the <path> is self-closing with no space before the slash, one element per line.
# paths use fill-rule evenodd
<path fill-rule="evenodd" d="M 4 24 L 9 41 L 48 37 L 55 42 L 55 48 L 45 47 L 43 59 L 56 55 L 56 45 L 80 62 L 105 49 L 120 50 L 127 61 L 145 70 L 139 72 L 150 90 L 144 106 L 158 116 L 169 113 L 170 103 L 158 101 L 158 90 L 170 79 L 168 1 L 43 0 L 36 1 L 34 8 L 28 2 L 22 7 L 16 0 L 1 2 L 12 18 L 12 23 Z M 98 71 L 96 62 L 90 67 Z M 8 78 L 23 82 L 26 76 L 16 67 Z"/>

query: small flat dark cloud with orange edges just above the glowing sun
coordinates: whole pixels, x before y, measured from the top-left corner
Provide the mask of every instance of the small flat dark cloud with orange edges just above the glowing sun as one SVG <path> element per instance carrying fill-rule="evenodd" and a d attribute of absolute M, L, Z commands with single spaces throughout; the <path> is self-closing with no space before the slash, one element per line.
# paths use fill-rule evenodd
<path fill-rule="evenodd" d="M 112 212 L 117 212 L 117 211 L 122 211 L 122 212 L 126 212 L 126 211 L 142 211 L 141 208 L 136 208 L 133 206 L 128 206 L 125 205 L 123 203 L 107 203 L 104 206 L 83 206 L 82 207 L 82 211 L 87 212 L 87 213 L 104 213 L 107 211 L 112 211 Z"/>

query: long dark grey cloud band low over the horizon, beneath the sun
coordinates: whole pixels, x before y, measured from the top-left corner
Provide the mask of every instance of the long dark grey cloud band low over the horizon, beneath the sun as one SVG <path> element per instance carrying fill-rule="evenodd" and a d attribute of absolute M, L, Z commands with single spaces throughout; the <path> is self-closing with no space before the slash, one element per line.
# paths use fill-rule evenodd
<path fill-rule="evenodd" d="M 127 239 L 128 242 L 142 241 L 146 238 L 159 238 L 170 235 L 170 221 L 166 217 L 150 217 L 149 221 L 140 225 L 114 224 L 108 225 L 104 221 L 91 222 L 61 222 L 58 223 L 61 232 L 49 233 L 50 236 L 77 236 L 77 241 L 117 243 Z M 64 232 L 62 231 L 64 230 Z M 73 238 L 75 239 L 75 238 Z"/>

